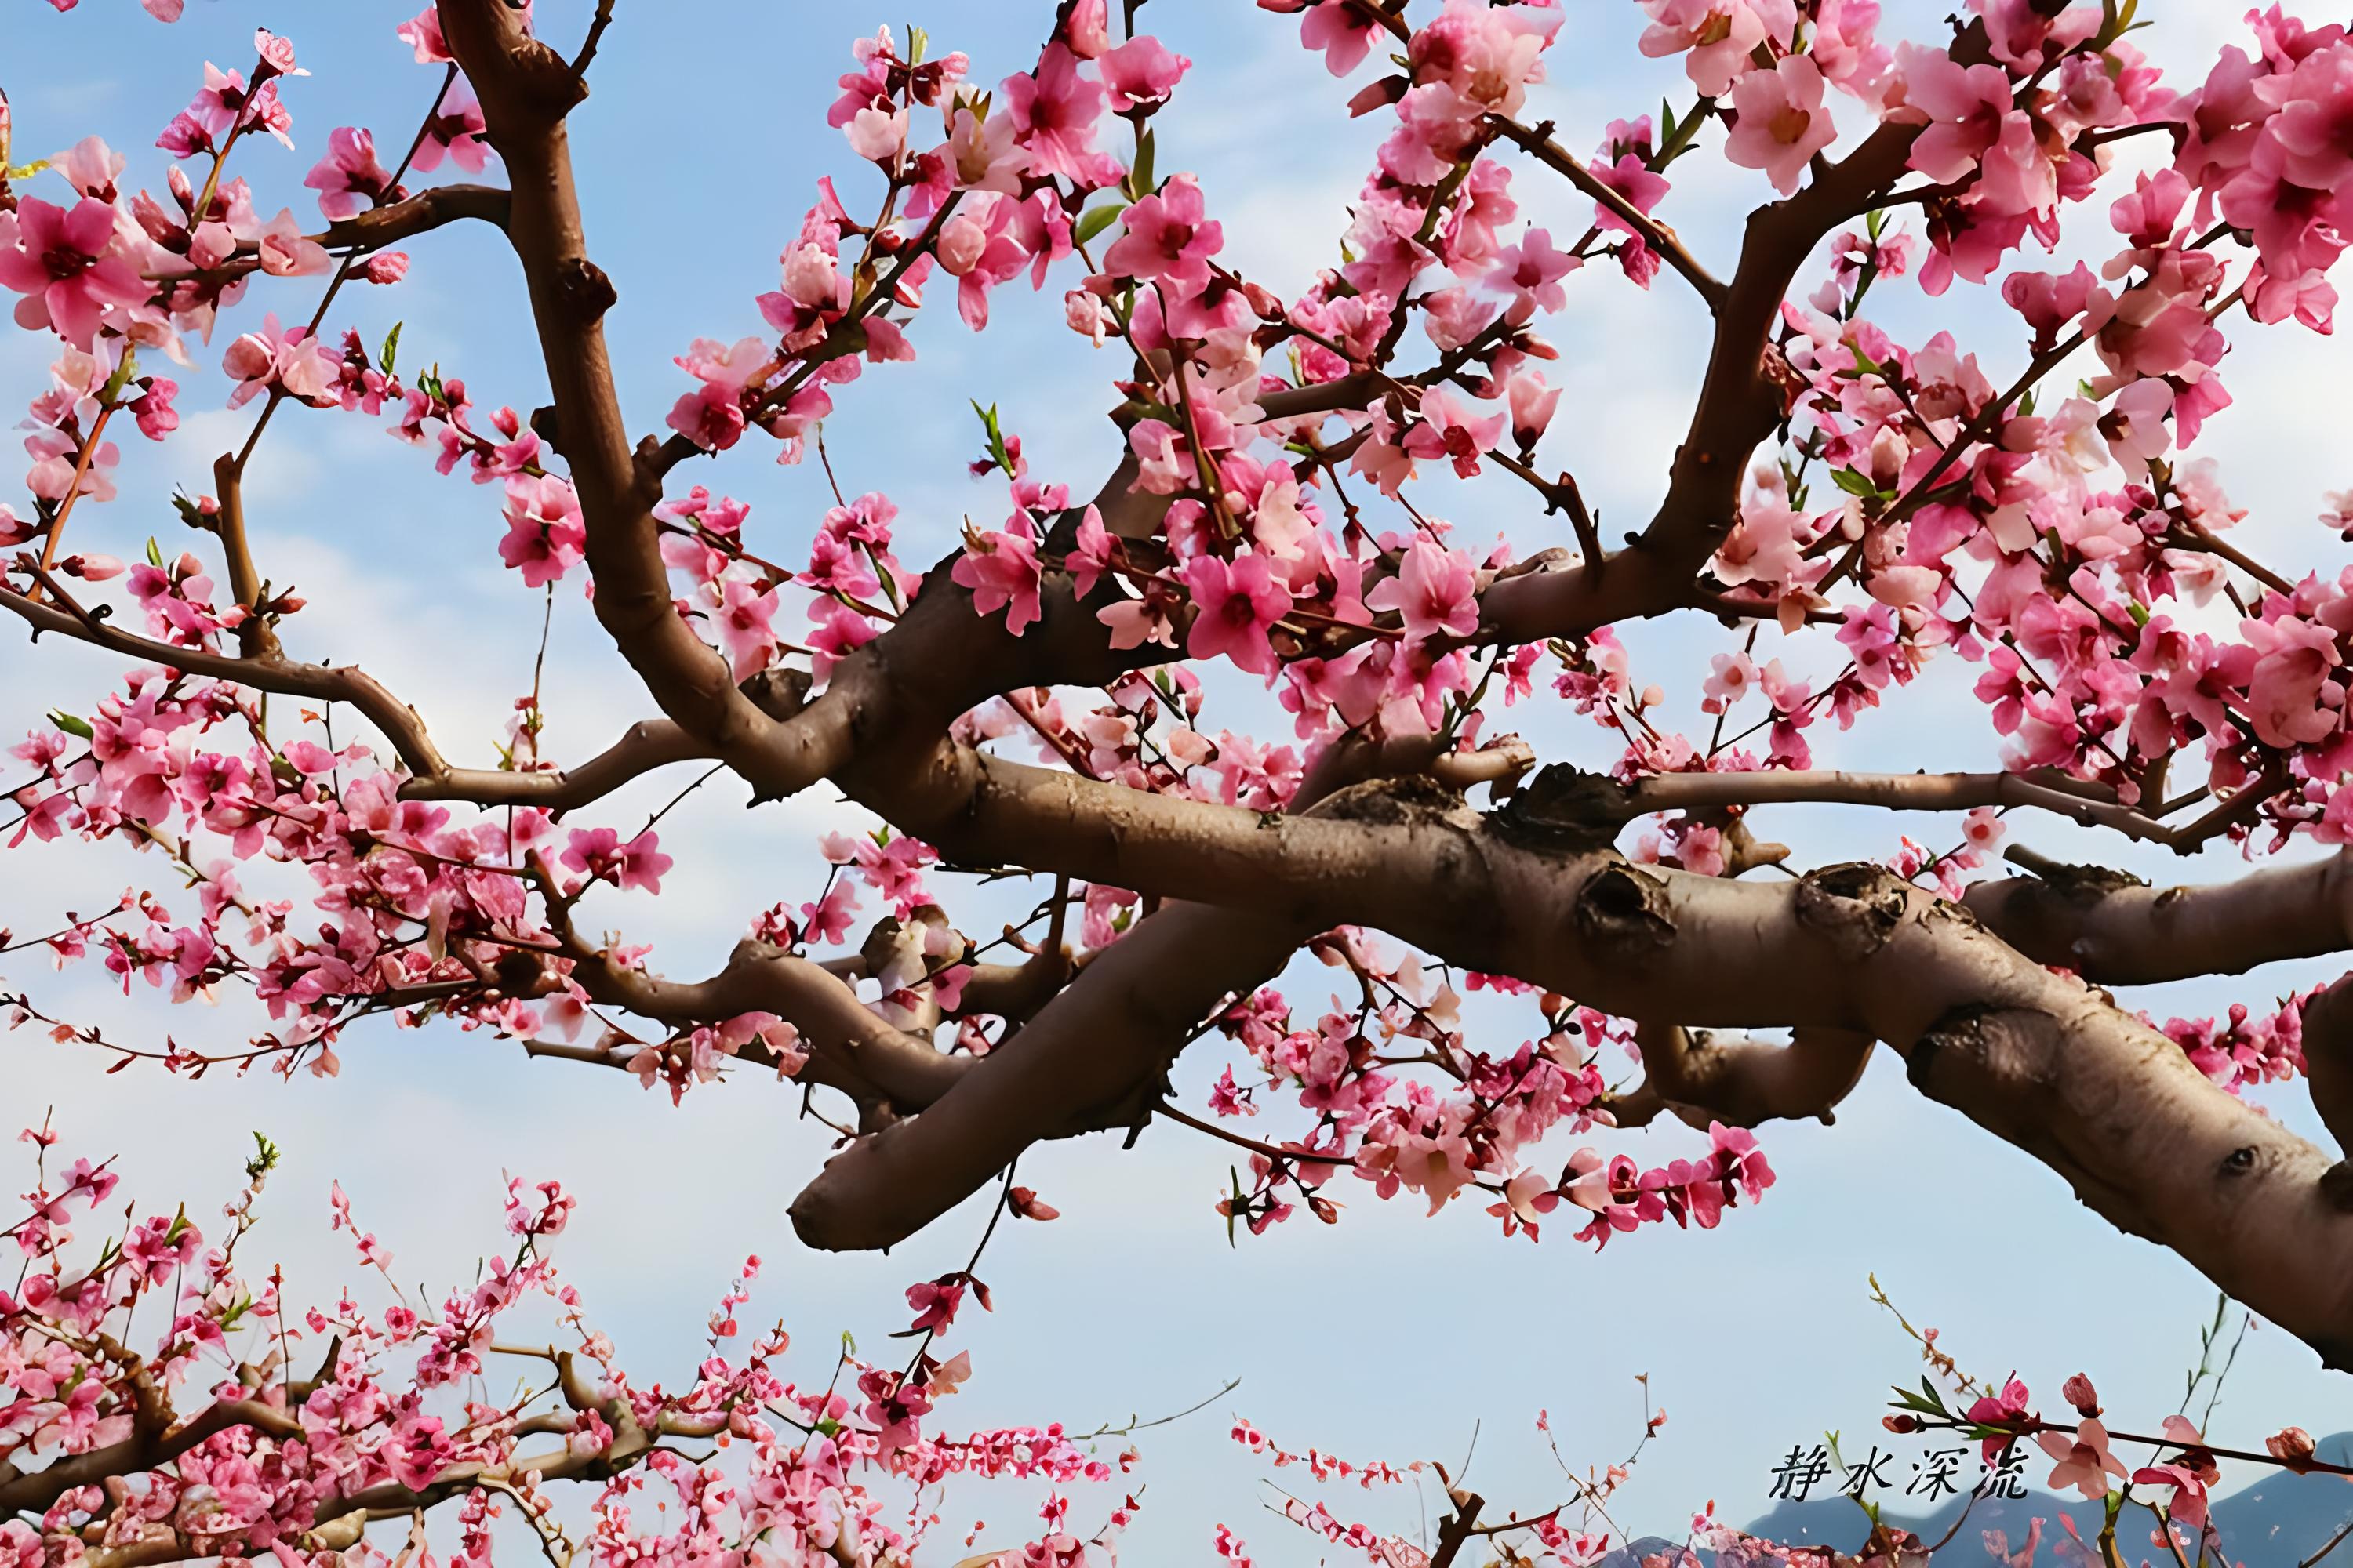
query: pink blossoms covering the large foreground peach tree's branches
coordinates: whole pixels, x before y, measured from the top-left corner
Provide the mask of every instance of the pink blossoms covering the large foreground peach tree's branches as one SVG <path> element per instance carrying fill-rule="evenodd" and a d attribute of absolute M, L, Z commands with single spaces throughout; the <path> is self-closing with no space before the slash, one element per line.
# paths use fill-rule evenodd
<path fill-rule="evenodd" d="M 2221 538 L 2240 508 L 2212 463 L 2186 456 L 2231 402 L 2219 367 L 2233 310 L 2329 324 L 2337 193 L 2353 181 L 2334 129 L 2339 80 L 2353 80 L 2344 28 L 2257 16 L 2252 54 L 2226 49 L 2205 85 L 2177 89 L 2127 42 L 2127 19 L 2092 5 L 1974 0 L 1948 47 L 1889 47 L 1866 0 L 1642 0 L 1645 52 L 1680 59 L 1699 99 L 1609 122 L 1579 160 L 1551 141 L 1548 122 L 1527 122 L 1569 19 L 1555 0 L 1445 0 L 1419 26 L 1407 7 L 1360 0 L 1261 7 L 1299 14 L 1304 45 L 1334 75 L 1374 59 L 1384 33 L 1395 45 L 1384 54 L 1395 71 L 1348 99 L 1353 113 L 1381 115 L 1384 136 L 1344 259 L 1294 299 L 1235 270 L 1195 174 L 1158 172 L 1155 115 L 1191 61 L 1144 33 L 1115 38 L 1104 0 L 1059 7 L 1035 63 L 995 89 L 969 80 L 965 54 L 932 54 L 920 33 L 859 40 L 828 122 L 856 176 L 878 186 L 859 207 L 871 216 L 821 181 L 781 247 L 779 287 L 746 301 L 741 324 L 758 315 L 765 331 L 689 341 L 675 357 L 689 386 L 671 407 L 671 435 L 638 449 L 635 475 L 718 458 L 751 428 L 779 444 L 779 461 L 798 461 L 866 364 L 915 360 L 911 322 L 934 273 L 953 280 L 958 317 L 979 331 L 998 287 L 1028 275 L 1038 292 L 1059 268 L 1071 331 L 1122 362 L 1122 480 L 1094 503 L 1075 501 L 1085 491 L 1033 475 L 1019 435 L 986 409 L 972 470 L 991 494 L 1005 487 L 1002 522 L 967 524 L 960 552 L 929 576 L 899 562 L 899 508 L 880 491 L 838 494 L 805 555 L 762 552 L 751 505 L 711 484 L 642 496 L 680 623 L 746 691 L 807 698 L 920 595 L 958 609 L 969 599 L 1007 639 L 1042 639 L 1071 621 L 1104 644 L 1089 651 L 1118 656 L 1118 672 L 998 691 L 944 717 L 951 741 L 1019 738 L 1087 780 L 1275 816 L 1348 748 L 1501 755 L 1497 708 L 1534 698 L 1539 679 L 1605 731 L 1598 771 L 1621 785 L 1807 771 L 1817 722 L 1854 726 L 1951 651 L 1981 665 L 1974 691 L 2007 764 L 2045 792 L 2141 825 L 2198 806 L 2186 846 L 2221 835 L 2252 846 L 2266 830 L 2273 849 L 2297 835 L 2353 844 L 2353 569 L 2289 581 L 2249 562 Z M 193 531 L 219 541 L 219 567 L 195 550 L 151 545 L 144 564 L 125 564 L 61 545 L 78 503 L 115 496 L 111 421 L 127 411 L 155 442 L 179 425 L 176 383 L 141 376 L 139 355 L 188 362 L 188 343 L 209 343 L 256 275 L 332 275 L 315 315 L 268 310 L 224 346 L 228 404 L 261 402 L 256 435 L 280 407 L 391 418 L 442 475 L 464 468 L 473 484 L 496 484 L 494 548 L 525 588 L 593 592 L 591 545 L 612 529 L 551 425 L 494 400 L 478 409 L 438 367 L 402 376 L 398 334 L 369 348 L 322 327 L 344 282 L 405 277 L 405 256 L 374 237 L 391 228 L 379 223 L 388 209 L 433 195 L 405 181 L 480 172 L 489 158 L 438 9 L 398 38 L 416 61 L 447 66 L 442 89 L 400 158 L 365 127 L 329 132 L 304 179 L 327 221 L 320 233 L 304 233 L 292 209 L 261 221 L 247 181 L 228 174 L 256 134 L 292 146 L 280 92 L 306 73 L 271 33 L 256 38 L 249 73 L 207 66 L 198 99 L 165 127 L 165 200 L 129 193 L 127 160 L 96 139 L 42 172 L 66 181 L 71 200 L 0 188 L 0 287 L 19 296 L 16 322 L 54 339 L 59 355 L 31 404 L 28 515 L 0 505 L 0 545 L 38 552 L 7 569 L 9 592 L 40 604 L 64 597 L 61 578 L 122 578 L 151 651 L 198 665 L 144 663 L 87 717 L 59 710 L 14 748 L 31 776 L 5 780 L 12 844 L 120 837 L 167 856 L 188 884 L 169 900 L 127 896 L 38 943 L 59 964 L 99 957 L 125 990 L 134 978 L 174 999 L 249 987 L 271 1027 L 245 1051 L 205 1056 L 118 1048 L 14 992 L 12 1020 L 176 1072 L 268 1060 L 327 1074 L 346 1025 L 391 1013 L 572 1051 L 671 1095 L 729 1065 L 805 1074 L 812 1041 L 793 1020 L 685 1018 L 661 1001 L 647 950 L 576 929 L 574 910 L 598 884 L 661 891 L 671 856 L 652 823 L 624 832 L 558 823 L 532 804 L 471 813 L 419 799 L 414 757 L 336 745 L 325 726 L 311 738 L 285 705 L 271 715 L 254 689 L 205 675 L 275 651 L 275 628 L 304 609 L 240 559 L 231 482 L 242 456 L 216 470 L 221 494 L 179 503 Z M 1828 162 L 1833 89 L 1873 122 L 1852 158 L 1899 155 L 1885 158 L 1868 212 L 1840 212 L 1854 228 L 1814 256 L 1812 289 L 1774 289 L 1755 308 L 1774 402 L 1762 423 L 1777 444 L 1732 482 L 1694 581 L 1631 607 L 1704 604 L 1753 628 L 1699 686 L 1694 708 L 1713 719 L 1701 743 L 1675 729 L 1664 689 L 1638 682 L 1609 625 L 1529 632 L 1527 616 L 1499 609 L 1529 581 L 1567 576 L 1572 559 L 1588 583 L 1609 583 L 1614 564 L 1574 480 L 1539 468 L 1562 400 L 1546 378 L 1560 350 L 1544 329 L 1588 263 L 1605 277 L 1577 284 L 1647 289 L 1678 273 L 1729 313 L 1722 284 L 1654 216 L 1668 172 L 1722 127 L 1729 162 L 1802 197 L 1845 167 Z M 2129 190 L 2111 179 L 2127 148 L 2160 146 L 2167 155 Z M 1581 235 L 1522 219 L 1518 153 L 1565 172 L 1593 202 Z M 2066 205 L 2094 197 L 2106 197 L 2115 235 L 2099 268 L 2019 261 L 2028 247 L 2057 249 Z M 1904 230 L 1911 207 L 1918 235 Z M 1998 287 L 2028 374 L 2005 388 L 1951 334 L 1904 343 L 1873 324 L 1873 287 L 1904 277 L 1929 294 Z M 574 282 L 584 299 L 595 294 L 595 277 Z M 1407 348 L 1421 369 L 1400 360 Z M 2078 350 L 2097 371 L 2075 395 L 2038 402 L 2038 381 Z M 1522 559 L 1504 538 L 1468 538 L 1417 505 L 1424 480 L 1497 473 L 1565 512 L 1581 552 Z M 2334 527 L 2346 527 L 2346 508 Z M 2233 569 L 2257 588 L 2240 592 Z M 1640 571 L 1633 559 L 1619 581 Z M 1767 632 L 1781 637 L 1779 654 L 1758 649 Z M 1266 741 L 1212 719 L 1186 661 L 1247 672 L 1292 733 Z M 539 757 L 536 691 L 515 715 L 504 771 L 553 773 Z M 1887 863 L 1960 896 L 2002 835 L 2000 811 L 1979 806 L 1958 844 L 1904 839 Z M 1631 849 L 1701 877 L 1769 858 L 1739 804 L 1659 813 Z M 748 936 L 784 954 L 849 947 L 861 896 L 873 896 L 878 922 L 854 952 L 826 959 L 828 973 L 868 985 L 861 1006 L 939 1056 L 986 1056 L 1026 1016 L 991 1011 L 1002 987 L 974 985 L 998 943 L 951 922 L 939 860 L 920 837 L 835 835 L 814 896 L 774 903 Z M 308 907 L 296 914 L 292 896 L 249 891 L 247 863 L 299 867 Z M 1068 959 L 1075 969 L 1122 940 L 1148 900 L 1108 884 L 1056 886 L 1002 940 L 1061 959 L 1071 910 L 1085 950 Z M 1045 943 L 1026 936 L 1038 922 Z M 1631 1048 L 1624 1020 L 1504 976 L 1466 976 L 1466 990 L 1532 1006 L 1539 1025 L 1511 1053 L 1480 1051 L 1452 980 L 1412 952 L 1388 954 L 1355 929 L 1322 936 L 1315 952 L 1351 976 L 1358 1001 L 1334 1001 L 1313 1023 L 1278 990 L 1219 1009 L 1238 1056 L 1212 1091 L 1209 1126 L 1249 1145 L 1252 1171 L 1221 1201 L 1228 1222 L 1261 1232 L 1299 1206 L 1332 1220 L 1332 1178 L 1348 1168 L 1377 1197 L 1412 1192 L 1431 1213 L 1482 1192 L 1504 1232 L 1529 1239 L 1574 1211 L 1574 1237 L 1602 1246 L 1645 1222 L 1713 1227 L 1772 1185 L 1753 1135 L 1725 1124 L 1692 1159 L 1645 1168 L 1579 1147 L 1555 1164 L 1539 1154 L 1546 1135 L 1617 1121 L 1605 1063 Z M 2231 1088 L 2301 1065 L 2297 1004 L 2167 1032 Z M 1292 1091 L 1306 1133 L 1259 1143 L 1226 1126 Z M 927 1288 L 927 1331 L 953 1316 L 967 1284 Z M 873 1387 L 861 1392 L 887 1415 L 880 1429 L 911 1432 L 927 1385 L 866 1375 Z M 727 1505 L 706 1500 L 706 1486 L 682 1483 L 682 1497 L 696 1519 L 718 1519 Z"/>

